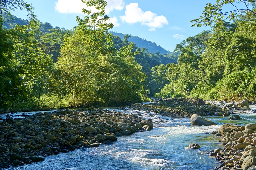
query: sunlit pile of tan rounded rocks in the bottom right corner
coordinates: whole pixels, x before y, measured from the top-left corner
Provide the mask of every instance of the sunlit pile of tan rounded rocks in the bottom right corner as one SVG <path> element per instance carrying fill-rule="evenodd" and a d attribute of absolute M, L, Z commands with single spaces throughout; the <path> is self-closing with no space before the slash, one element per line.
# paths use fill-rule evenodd
<path fill-rule="evenodd" d="M 256 124 L 224 124 L 219 129 L 223 148 L 210 154 L 221 163 L 216 169 L 256 170 Z"/>

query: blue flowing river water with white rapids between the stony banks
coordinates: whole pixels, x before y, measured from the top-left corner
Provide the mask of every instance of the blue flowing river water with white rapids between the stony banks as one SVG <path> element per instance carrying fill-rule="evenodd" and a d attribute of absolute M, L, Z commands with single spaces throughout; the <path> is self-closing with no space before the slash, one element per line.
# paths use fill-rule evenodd
<path fill-rule="evenodd" d="M 251 107 L 255 109 L 255 106 Z M 152 131 L 136 132 L 118 137 L 113 145 L 81 148 L 68 153 L 45 157 L 45 161 L 11 167 L 8 170 L 211 170 L 220 164 L 208 156 L 209 151 L 221 147 L 221 137 L 209 134 L 223 123 L 239 125 L 255 123 L 256 114 L 251 111 L 238 113 L 243 120 L 229 121 L 228 117 L 207 117 L 217 126 L 191 126 L 190 119 L 174 119 L 148 112 L 126 110 L 151 118 Z M 197 143 L 200 149 L 188 149 L 189 143 Z"/>

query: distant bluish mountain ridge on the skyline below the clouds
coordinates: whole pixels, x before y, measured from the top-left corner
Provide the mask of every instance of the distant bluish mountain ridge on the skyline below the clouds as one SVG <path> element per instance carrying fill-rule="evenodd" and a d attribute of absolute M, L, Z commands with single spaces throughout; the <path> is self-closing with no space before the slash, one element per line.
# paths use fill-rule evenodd
<path fill-rule="evenodd" d="M 122 40 L 124 39 L 124 34 L 122 33 L 117 33 L 113 31 L 110 31 L 110 33 L 115 36 L 119 36 Z M 148 49 L 148 52 L 152 52 L 152 53 L 160 52 L 162 54 L 170 52 L 164 49 L 163 47 L 161 47 L 160 45 L 157 45 L 155 42 L 147 41 L 145 39 L 139 38 L 138 36 L 132 36 L 132 35 L 129 35 L 129 36 L 130 36 L 129 42 L 134 42 L 137 47 L 140 47 L 140 48 L 144 47 Z"/>

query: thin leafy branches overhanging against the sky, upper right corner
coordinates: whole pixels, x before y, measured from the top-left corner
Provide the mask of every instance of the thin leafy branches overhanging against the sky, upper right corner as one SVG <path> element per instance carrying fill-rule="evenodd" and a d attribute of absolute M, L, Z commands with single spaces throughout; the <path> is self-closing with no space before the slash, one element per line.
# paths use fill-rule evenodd
<path fill-rule="evenodd" d="M 240 7 L 235 3 L 242 5 Z M 233 9 L 224 12 L 222 8 L 226 4 L 229 4 Z M 216 4 L 207 3 L 202 15 L 190 22 L 195 23 L 192 26 L 201 27 L 201 23 L 204 26 L 211 26 L 212 23 L 223 23 L 226 19 L 234 20 L 238 14 L 244 14 L 245 12 L 249 12 L 256 17 L 255 5 L 255 0 L 217 0 Z"/>

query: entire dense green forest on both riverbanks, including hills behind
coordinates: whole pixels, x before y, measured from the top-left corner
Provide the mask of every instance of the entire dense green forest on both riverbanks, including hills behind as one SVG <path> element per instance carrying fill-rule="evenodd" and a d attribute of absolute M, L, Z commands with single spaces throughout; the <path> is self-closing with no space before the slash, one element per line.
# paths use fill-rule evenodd
<path fill-rule="evenodd" d="M 98 12 L 84 9 L 73 30 L 39 22 L 25 1 L 1 3 L 0 108 L 121 106 L 154 96 L 256 98 L 256 2 L 241 2 L 247 9 L 229 12 L 229 22 L 221 7 L 231 2 L 207 4 L 192 22 L 211 30 L 165 54 L 155 43 L 152 53 L 133 36 L 110 32 L 103 2 L 85 1 Z M 28 20 L 13 9 L 27 10 Z"/>

